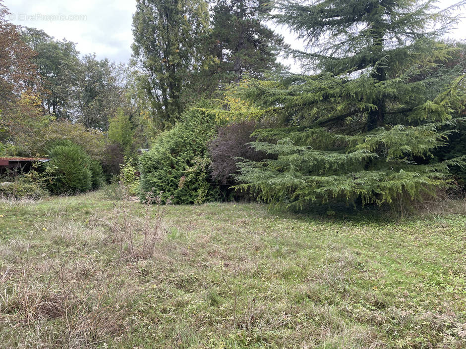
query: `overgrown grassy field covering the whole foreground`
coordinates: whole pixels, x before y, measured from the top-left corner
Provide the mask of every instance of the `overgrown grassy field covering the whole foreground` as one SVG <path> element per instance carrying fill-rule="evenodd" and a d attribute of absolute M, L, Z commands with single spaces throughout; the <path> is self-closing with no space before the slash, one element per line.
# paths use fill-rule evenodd
<path fill-rule="evenodd" d="M 466 201 L 444 208 L 1 201 L 0 348 L 466 348 Z"/>

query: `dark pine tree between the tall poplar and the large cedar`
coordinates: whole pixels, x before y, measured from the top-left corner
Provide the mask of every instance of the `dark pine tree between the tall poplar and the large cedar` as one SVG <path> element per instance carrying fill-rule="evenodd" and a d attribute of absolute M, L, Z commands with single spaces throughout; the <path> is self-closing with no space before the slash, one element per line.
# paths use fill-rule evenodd
<path fill-rule="evenodd" d="M 283 38 L 264 23 L 270 3 L 262 0 L 218 0 L 212 8 L 212 38 L 221 77 L 238 83 L 248 72 L 260 77 L 280 67 L 276 57 Z"/>

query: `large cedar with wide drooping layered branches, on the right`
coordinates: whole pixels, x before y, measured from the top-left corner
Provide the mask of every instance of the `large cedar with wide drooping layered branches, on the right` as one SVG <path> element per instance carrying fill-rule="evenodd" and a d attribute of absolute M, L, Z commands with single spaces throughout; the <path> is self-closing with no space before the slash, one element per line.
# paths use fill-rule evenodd
<path fill-rule="evenodd" d="M 442 64 L 439 38 L 455 23 L 434 1 L 282 1 L 273 18 L 306 41 L 294 52 L 318 73 L 246 81 L 229 91 L 225 118 L 256 118 L 256 150 L 237 179 L 267 201 L 392 202 L 448 182 L 452 159 L 436 162 L 465 108 L 465 78 Z M 443 131 L 446 125 L 450 131 Z"/>

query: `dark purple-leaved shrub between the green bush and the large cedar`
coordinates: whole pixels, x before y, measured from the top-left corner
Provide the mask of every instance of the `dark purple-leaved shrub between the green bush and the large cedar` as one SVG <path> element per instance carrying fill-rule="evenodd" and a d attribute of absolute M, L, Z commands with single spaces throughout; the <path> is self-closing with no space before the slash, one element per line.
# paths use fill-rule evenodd
<path fill-rule="evenodd" d="M 250 137 L 255 129 L 254 121 L 233 123 L 219 129 L 217 137 L 208 146 L 213 179 L 222 184 L 233 185 L 235 182 L 232 175 L 238 171 L 238 157 L 253 161 L 266 157 L 265 153 L 254 150 L 247 144 L 256 141 L 256 138 Z"/>

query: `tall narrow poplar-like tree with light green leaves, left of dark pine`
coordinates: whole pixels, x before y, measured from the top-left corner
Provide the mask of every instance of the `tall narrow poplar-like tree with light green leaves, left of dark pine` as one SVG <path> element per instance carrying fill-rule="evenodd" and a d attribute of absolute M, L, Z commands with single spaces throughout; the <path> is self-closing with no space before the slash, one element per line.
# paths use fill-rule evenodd
<path fill-rule="evenodd" d="M 181 115 L 186 93 L 202 65 L 197 50 L 207 31 L 204 0 L 137 0 L 133 55 L 144 73 L 140 86 L 165 125 Z"/>

